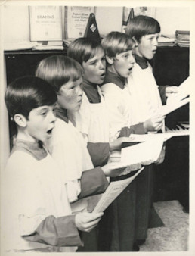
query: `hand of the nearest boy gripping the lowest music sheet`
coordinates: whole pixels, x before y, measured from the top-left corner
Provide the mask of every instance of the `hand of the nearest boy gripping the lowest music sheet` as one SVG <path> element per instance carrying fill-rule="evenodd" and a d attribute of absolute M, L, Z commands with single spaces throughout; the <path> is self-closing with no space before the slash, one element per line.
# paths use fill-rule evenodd
<path fill-rule="evenodd" d="M 90 232 L 92 229 L 94 229 L 95 226 L 97 226 L 97 223 L 101 220 L 103 215 L 103 212 L 97 214 L 88 212 L 76 214 L 76 227 L 81 231 Z"/>

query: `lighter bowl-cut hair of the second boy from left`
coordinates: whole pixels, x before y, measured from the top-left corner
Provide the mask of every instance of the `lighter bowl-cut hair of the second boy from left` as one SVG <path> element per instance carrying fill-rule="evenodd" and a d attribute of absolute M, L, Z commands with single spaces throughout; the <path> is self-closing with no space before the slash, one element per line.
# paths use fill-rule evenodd
<path fill-rule="evenodd" d="M 45 58 L 36 69 L 36 76 L 50 83 L 55 92 L 59 92 L 60 87 L 69 80 L 78 80 L 83 73 L 83 68 L 77 61 L 63 55 Z"/>

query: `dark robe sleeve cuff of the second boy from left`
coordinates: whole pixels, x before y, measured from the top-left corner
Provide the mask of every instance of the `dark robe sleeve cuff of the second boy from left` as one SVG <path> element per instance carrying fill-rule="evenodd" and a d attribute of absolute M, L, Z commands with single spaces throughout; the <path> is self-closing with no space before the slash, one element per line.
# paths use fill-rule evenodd
<path fill-rule="evenodd" d="M 100 167 L 85 170 L 85 172 L 82 173 L 81 193 L 78 198 L 81 199 L 89 195 L 101 194 L 107 189 L 107 186 L 107 178 Z"/>

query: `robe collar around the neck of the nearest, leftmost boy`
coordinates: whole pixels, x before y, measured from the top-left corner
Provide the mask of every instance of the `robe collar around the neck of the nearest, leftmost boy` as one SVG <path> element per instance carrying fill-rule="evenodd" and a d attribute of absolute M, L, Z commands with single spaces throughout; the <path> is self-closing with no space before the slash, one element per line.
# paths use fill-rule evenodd
<path fill-rule="evenodd" d="M 14 147 L 11 150 L 11 154 L 13 154 L 14 151 L 17 150 L 24 151 L 29 155 L 32 155 L 32 157 L 36 158 L 36 160 L 42 160 L 48 155 L 41 141 L 29 142 L 23 139 L 16 139 L 14 142 Z"/>

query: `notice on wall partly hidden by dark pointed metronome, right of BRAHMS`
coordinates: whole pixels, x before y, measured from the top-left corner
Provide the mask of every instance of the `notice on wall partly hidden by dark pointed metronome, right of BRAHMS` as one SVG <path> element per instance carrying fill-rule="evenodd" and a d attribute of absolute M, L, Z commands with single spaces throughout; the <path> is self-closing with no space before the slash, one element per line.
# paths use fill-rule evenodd
<path fill-rule="evenodd" d="M 65 6 L 65 39 L 83 37 L 93 6 Z"/>

